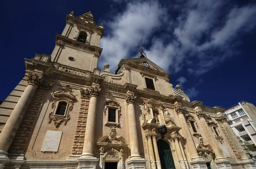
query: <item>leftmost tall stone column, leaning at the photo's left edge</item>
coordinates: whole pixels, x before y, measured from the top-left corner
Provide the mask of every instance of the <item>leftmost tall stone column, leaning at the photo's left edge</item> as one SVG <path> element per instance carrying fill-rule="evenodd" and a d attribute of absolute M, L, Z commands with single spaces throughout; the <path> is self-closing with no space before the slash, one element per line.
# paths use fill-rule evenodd
<path fill-rule="evenodd" d="M 20 123 L 28 109 L 36 89 L 41 83 L 41 77 L 37 74 L 29 74 L 28 86 L 20 97 L 9 119 L 7 120 L 3 131 L 0 134 L 0 154 L 7 155 Z"/>

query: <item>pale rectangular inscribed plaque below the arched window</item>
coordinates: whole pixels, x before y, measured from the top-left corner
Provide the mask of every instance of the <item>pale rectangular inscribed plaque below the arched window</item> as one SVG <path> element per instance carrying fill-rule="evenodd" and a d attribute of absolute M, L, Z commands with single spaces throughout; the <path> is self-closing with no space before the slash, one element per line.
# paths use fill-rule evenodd
<path fill-rule="evenodd" d="M 58 152 L 62 132 L 47 130 L 41 152 Z"/>

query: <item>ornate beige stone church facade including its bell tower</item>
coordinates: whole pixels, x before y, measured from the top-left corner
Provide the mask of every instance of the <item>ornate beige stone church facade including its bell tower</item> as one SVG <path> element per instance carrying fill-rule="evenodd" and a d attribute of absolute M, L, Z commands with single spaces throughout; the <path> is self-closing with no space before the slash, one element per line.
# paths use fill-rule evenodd
<path fill-rule="evenodd" d="M 103 24 L 67 15 L 52 54 L 0 105 L 0 169 L 253 169 L 219 106 L 169 83 L 146 57 L 97 69 Z M 150 56 L 148 56 L 150 58 Z"/>

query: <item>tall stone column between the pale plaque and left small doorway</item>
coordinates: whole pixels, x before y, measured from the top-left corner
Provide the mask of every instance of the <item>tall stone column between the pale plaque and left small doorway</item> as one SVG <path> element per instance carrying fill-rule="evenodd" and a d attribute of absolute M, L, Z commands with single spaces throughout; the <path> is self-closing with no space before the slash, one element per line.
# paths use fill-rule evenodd
<path fill-rule="evenodd" d="M 97 100 L 99 97 L 100 89 L 97 87 L 86 89 L 87 96 L 90 97 L 87 122 L 84 134 L 84 147 L 81 158 L 94 157 L 93 155 L 93 145 L 94 145 L 94 133 L 95 133 L 95 123 L 96 123 L 96 109 L 97 109 Z"/>

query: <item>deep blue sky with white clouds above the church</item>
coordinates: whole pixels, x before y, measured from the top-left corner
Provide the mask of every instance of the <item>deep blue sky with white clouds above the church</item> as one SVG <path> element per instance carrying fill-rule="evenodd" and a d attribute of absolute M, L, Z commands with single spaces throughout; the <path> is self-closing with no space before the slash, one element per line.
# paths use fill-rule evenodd
<path fill-rule="evenodd" d="M 0 8 L 0 100 L 24 76 L 24 58 L 52 53 L 66 14 L 92 11 L 105 29 L 99 69 L 109 63 L 114 72 L 119 60 L 137 57 L 143 47 L 190 100 L 256 105 L 255 0 L 12 0 Z"/>

